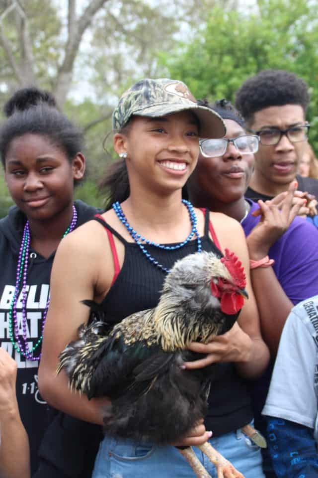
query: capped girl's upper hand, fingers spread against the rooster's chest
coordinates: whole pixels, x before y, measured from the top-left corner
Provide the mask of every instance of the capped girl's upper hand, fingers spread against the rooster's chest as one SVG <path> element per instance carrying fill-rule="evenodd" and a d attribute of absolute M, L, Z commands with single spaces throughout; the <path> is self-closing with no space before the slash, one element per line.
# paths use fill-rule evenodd
<path fill-rule="evenodd" d="M 191 342 L 189 350 L 206 357 L 184 362 L 185 368 L 203 368 L 215 362 L 248 362 L 252 354 L 253 342 L 236 322 L 231 330 L 211 339 L 208 344 Z"/>

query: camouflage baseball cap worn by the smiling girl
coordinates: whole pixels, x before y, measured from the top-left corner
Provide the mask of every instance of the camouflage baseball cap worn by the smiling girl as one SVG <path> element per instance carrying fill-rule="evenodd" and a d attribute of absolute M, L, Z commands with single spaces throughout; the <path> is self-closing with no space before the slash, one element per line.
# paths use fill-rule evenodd
<path fill-rule="evenodd" d="M 223 119 L 214 111 L 197 105 L 182 81 L 146 78 L 138 81 L 119 100 L 112 117 L 113 129 L 120 129 L 131 116 L 159 118 L 190 110 L 198 118 L 202 138 L 222 138 L 226 134 Z"/>

